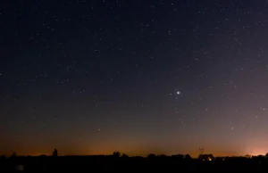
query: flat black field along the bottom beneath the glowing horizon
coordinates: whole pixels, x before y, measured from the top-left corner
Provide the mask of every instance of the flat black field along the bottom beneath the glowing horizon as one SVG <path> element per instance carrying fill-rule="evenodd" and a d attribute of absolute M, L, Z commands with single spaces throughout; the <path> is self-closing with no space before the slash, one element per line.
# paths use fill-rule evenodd
<path fill-rule="evenodd" d="M 197 172 L 197 171 L 268 171 L 268 159 L 229 157 L 214 161 L 185 159 L 180 156 L 114 157 L 109 156 L 38 156 L 1 158 L 0 172 L 16 171 L 116 171 L 116 172 Z"/>

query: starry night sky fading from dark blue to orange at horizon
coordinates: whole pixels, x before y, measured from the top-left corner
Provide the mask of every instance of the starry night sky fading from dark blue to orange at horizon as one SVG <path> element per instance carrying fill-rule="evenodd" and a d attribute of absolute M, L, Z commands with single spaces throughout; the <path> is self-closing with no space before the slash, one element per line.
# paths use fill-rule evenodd
<path fill-rule="evenodd" d="M 0 154 L 268 152 L 268 3 L 0 4 Z"/>

